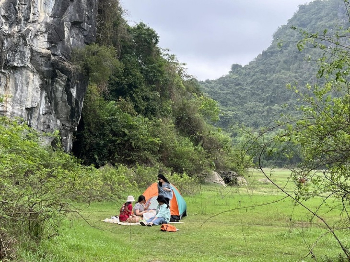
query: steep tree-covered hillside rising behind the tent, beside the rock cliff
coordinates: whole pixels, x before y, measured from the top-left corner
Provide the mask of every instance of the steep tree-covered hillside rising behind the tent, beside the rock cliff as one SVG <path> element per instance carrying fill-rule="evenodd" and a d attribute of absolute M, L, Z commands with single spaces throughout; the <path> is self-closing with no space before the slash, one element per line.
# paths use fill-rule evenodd
<path fill-rule="evenodd" d="M 229 136 L 212 125 L 217 103 L 158 41 L 146 24 L 128 25 L 118 1 L 99 1 L 97 43 L 73 54 L 90 78 L 74 154 L 97 167 L 242 171 Z"/>

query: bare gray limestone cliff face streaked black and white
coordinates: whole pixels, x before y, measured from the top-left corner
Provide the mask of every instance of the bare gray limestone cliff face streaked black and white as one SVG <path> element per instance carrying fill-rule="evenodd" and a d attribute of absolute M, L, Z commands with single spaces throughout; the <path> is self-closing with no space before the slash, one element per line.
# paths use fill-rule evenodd
<path fill-rule="evenodd" d="M 70 151 L 88 85 L 72 48 L 96 37 L 98 0 L 0 0 L 0 114 L 59 130 Z"/>

